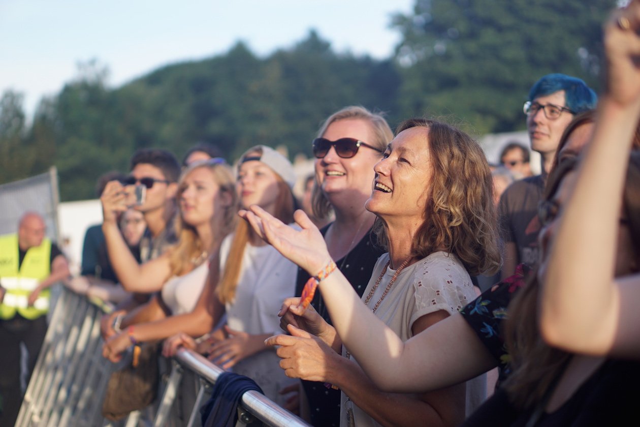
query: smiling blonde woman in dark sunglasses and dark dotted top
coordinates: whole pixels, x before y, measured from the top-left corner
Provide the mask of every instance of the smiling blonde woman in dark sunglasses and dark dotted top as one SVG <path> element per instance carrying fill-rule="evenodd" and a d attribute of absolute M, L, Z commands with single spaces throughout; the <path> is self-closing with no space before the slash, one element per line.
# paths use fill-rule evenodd
<path fill-rule="evenodd" d="M 338 268 L 360 296 L 378 257 L 384 253 L 372 234 L 376 216 L 364 205 L 371 195 L 373 166 L 380 161 L 392 138 L 393 133 L 381 115 L 360 106 L 349 106 L 324 121 L 312 144 L 316 157 L 314 216 L 326 218 L 332 212 L 335 215 L 335 220 L 320 232 Z M 298 270 L 296 295 L 301 294 L 308 278 L 305 270 Z M 312 305 L 330 322 L 320 293 L 316 293 Z M 314 357 L 307 360 L 310 366 L 316 363 Z M 310 422 L 314 426 L 338 426 L 340 392 L 327 389 L 321 382 L 303 381 L 303 387 Z"/>

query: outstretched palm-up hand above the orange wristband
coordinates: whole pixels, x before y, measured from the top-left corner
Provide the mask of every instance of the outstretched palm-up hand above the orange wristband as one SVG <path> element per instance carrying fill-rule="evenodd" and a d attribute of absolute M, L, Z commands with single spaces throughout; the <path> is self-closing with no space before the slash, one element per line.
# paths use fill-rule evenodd
<path fill-rule="evenodd" d="M 241 210 L 239 214 L 262 239 L 310 275 L 316 275 L 331 261 L 320 230 L 303 211 L 293 214 L 301 230 L 289 227 L 257 205 Z"/>

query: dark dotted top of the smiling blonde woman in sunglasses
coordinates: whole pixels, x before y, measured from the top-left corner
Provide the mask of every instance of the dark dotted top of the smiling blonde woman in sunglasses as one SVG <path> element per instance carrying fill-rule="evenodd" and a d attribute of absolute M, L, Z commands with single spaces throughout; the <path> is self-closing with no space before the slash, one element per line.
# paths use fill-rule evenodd
<path fill-rule="evenodd" d="M 326 225 L 320 230 L 323 236 L 326 234 L 326 230 L 328 230 L 330 225 L 331 224 Z M 362 296 L 367 284 L 369 284 L 369 278 L 371 278 L 371 272 L 376 265 L 376 261 L 378 261 L 380 255 L 387 252 L 374 243 L 376 241 L 375 239 L 376 236 L 374 236 L 371 229 L 369 229 L 369 232 L 364 235 L 349 254 L 335 262 L 339 270 L 344 274 L 344 277 L 349 280 L 349 283 L 353 286 L 358 296 Z M 309 275 L 307 271 L 298 268 L 296 295 L 300 296 L 302 288 L 308 279 Z M 326 305 L 324 305 L 319 291 L 314 294 L 314 299 L 311 303 L 320 316 L 331 324 L 329 312 L 326 309 Z M 320 382 L 303 381 L 302 385 L 305 387 L 309 401 L 311 424 L 317 427 L 339 426 L 340 391 L 327 389 L 324 387 L 324 384 Z"/>

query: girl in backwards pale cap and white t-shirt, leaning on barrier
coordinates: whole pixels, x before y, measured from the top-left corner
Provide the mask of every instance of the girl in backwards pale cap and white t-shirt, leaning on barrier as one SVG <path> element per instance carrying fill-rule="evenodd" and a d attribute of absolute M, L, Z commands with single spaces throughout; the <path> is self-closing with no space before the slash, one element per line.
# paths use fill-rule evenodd
<path fill-rule="evenodd" d="M 243 207 L 259 205 L 284 223 L 291 223 L 294 202 L 291 188 L 296 175 L 289 161 L 275 150 L 258 145 L 246 151 L 237 165 L 236 189 Z M 267 245 L 244 221 L 236 225 L 220 248 L 220 281 L 215 296 L 224 305 L 227 324 L 214 332 L 198 351 L 224 369 L 246 375 L 265 396 L 284 405 L 287 378 L 280 359 L 264 340 L 280 331 L 278 310 L 294 294 L 298 268 Z M 168 340 L 165 355 L 177 346 L 195 348 L 185 334 Z"/>

